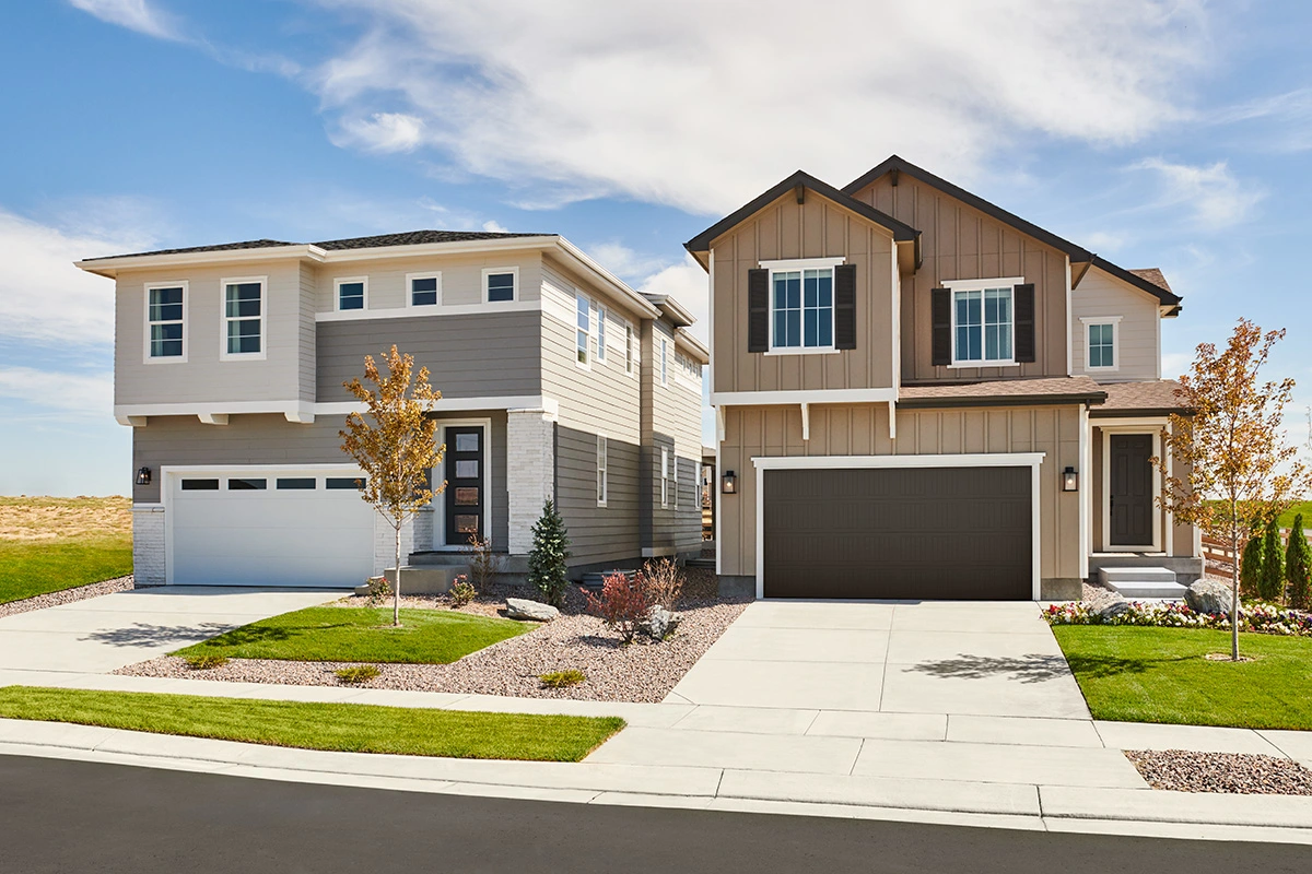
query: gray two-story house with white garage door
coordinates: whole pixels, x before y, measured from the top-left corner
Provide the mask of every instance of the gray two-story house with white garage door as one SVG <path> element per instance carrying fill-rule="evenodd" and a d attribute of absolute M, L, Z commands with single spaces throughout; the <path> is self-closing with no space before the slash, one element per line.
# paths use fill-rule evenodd
<path fill-rule="evenodd" d="M 554 498 L 573 573 L 701 546 L 702 366 L 676 301 L 556 235 L 420 231 L 92 258 L 115 282 L 139 583 L 357 586 L 392 563 L 338 431 L 394 343 L 446 447 L 411 553 L 491 537 L 522 570 Z M 412 556 L 412 561 L 415 557 Z"/>

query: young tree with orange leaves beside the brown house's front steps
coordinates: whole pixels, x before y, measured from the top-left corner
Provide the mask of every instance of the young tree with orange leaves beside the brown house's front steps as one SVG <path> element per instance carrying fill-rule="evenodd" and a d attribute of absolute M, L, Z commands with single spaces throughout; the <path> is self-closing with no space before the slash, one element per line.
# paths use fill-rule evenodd
<path fill-rule="evenodd" d="M 1283 330 L 1266 334 L 1240 318 L 1224 350 L 1200 343 L 1177 396 L 1191 415 L 1172 414 L 1162 431 L 1166 452 L 1153 459 L 1162 474 L 1160 503 L 1176 519 L 1231 544 L 1237 557 L 1249 533 L 1281 514 L 1308 485 L 1308 469 L 1284 439 L 1282 417 L 1294 380 L 1258 384 L 1271 346 Z M 1168 459 L 1186 465 L 1172 473 Z M 1239 561 L 1231 574 L 1231 658 L 1239 660 Z"/>

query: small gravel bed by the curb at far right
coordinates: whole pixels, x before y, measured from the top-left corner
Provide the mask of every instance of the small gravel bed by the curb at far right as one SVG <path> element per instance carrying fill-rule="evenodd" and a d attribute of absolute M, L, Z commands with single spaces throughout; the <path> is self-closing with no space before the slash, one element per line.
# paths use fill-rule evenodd
<path fill-rule="evenodd" d="M 1296 761 L 1236 752 L 1126 750 L 1153 789 L 1241 795 L 1312 795 L 1312 770 Z"/>

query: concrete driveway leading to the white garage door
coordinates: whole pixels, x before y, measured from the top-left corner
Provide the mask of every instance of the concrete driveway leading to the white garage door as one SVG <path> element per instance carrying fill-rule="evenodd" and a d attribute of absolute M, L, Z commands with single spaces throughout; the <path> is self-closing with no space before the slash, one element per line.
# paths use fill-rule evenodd
<path fill-rule="evenodd" d="M 269 616 L 341 598 L 336 590 L 167 586 L 0 618 L 0 671 L 104 674 Z"/>

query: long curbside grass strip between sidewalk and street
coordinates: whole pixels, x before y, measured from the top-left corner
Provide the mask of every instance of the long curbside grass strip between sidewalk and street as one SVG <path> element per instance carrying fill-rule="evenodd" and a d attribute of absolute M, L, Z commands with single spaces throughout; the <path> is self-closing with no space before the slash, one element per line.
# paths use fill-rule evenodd
<path fill-rule="evenodd" d="M 0 688 L 0 717 L 304 750 L 526 761 L 579 761 L 625 727 L 618 717 L 412 710 L 24 685 Z"/>

